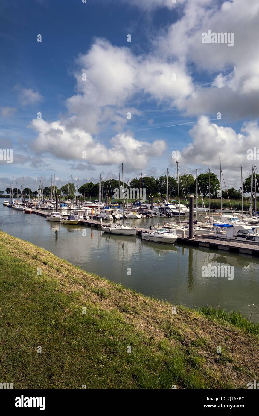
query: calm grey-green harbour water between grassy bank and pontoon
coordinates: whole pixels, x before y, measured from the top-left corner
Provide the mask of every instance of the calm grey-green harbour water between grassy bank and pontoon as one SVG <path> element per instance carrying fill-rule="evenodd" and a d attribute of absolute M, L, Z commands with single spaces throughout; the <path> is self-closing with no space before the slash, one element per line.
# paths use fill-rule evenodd
<path fill-rule="evenodd" d="M 86 271 L 122 283 L 144 295 L 188 307 L 220 306 L 225 310 L 241 310 L 249 317 L 251 307 L 248 305 L 254 303 L 257 310 L 251 320 L 259 320 L 257 258 L 188 245 L 148 243 L 139 237 L 102 235 L 97 228 L 62 225 L 33 213 L 24 214 L 2 206 L 3 201 L 4 198 L 0 198 L 2 231 L 49 250 Z M 166 219 L 166 222 L 170 220 Z M 134 223 L 134 220 L 128 221 Z M 157 221 L 141 219 L 135 220 L 135 224 L 148 228 L 150 223 Z M 160 221 L 163 223 L 163 219 Z M 82 235 L 83 230 L 86 230 L 86 236 Z M 202 277 L 202 266 L 208 263 L 234 266 L 234 279 Z"/>

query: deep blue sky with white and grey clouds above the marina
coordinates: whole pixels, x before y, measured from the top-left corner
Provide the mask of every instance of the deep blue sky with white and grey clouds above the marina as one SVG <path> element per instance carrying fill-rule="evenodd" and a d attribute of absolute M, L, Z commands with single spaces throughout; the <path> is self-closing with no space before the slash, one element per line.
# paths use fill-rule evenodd
<path fill-rule="evenodd" d="M 258 19 L 258 0 L 1 0 L 0 190 L 122 162 L 125 181 L 175 176 L 176 157 L 219 176 L 219 156 L 239 188 L 259 158 Z"/>

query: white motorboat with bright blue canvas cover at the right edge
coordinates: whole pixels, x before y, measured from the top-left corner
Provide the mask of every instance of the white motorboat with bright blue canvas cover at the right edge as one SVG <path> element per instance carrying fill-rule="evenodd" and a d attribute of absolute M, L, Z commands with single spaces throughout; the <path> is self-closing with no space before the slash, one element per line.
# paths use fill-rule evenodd
<path fill-rule="evenodd" d="M 259 245 L 259 234 L 249 225 L 215 223 L 213 228 L 217 240 Z"/>

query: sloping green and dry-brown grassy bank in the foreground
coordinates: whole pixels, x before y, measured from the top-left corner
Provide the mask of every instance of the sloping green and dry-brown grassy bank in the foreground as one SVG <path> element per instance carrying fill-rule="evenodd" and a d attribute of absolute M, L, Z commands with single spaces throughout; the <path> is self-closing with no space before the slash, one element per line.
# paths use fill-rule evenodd
<path fill-rule="evenodd" d="M 0 382 L 14 389 L 246 389 L 258 347 L 258 325 L 239 314 L 172 314 L 0 232 Z"/>

